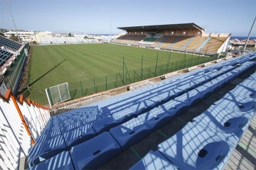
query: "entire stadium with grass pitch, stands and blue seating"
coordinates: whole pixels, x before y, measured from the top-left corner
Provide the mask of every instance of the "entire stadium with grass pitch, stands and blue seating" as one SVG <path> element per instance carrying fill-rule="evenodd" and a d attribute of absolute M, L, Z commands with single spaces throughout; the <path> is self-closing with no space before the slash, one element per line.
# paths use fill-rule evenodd
<path fill-rule="evenodd" d="M 256 52 L 196 23 L 118 29 L 0 36 L 0 169 L 255 169 Z"/>

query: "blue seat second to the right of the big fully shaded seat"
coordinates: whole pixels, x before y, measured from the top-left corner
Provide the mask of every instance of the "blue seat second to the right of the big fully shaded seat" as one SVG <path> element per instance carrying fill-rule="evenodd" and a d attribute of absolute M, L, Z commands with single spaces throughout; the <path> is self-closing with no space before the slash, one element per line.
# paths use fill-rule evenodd
<path fill-rule="evenodd" d="M 153 131 L 163 127 L 174 118 L 176 116 L 169 114 L 162 106 L 158 106 L 138 116 L 138 119 L 148 125 Z"/>

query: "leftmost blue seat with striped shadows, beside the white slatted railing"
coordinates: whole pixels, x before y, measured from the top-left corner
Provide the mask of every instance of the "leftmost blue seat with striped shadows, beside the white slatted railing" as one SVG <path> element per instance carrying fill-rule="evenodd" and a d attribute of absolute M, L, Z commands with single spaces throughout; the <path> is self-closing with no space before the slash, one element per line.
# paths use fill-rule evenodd
<path fill-rule="evenodd" d="M 66 150 L 62 135 L 39 143 L 28 150 L 28 166 L 34 166 Z"/>

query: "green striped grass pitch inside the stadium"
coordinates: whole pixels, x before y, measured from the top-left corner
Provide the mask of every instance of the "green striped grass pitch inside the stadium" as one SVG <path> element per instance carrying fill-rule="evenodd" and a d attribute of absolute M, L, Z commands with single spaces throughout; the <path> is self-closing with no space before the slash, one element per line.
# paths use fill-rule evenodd
<path fill-rule="evenodd" d="M 159 56 L 157 68 L 160 72 L 161 67 L 166 66 L 170 52 L 102 43 L 34 46 L 28 74 L 28 85 L 31 86 L 28 98 L 47 104 L 45 89 L 65 82 L 69 84 L 72 98 L 89 95 L 92 91 L 95 92 L 94 78 L 96 91 L 100 92 L 106 88 L 105 76 L 107 76 L 107 89 L 114 88 L 117 73 L 122 74 L 123 57 L 127 70 L 130 71 L 130 77 L 134 77 L 133 70 L 136 70 L 135 81 L 138 81 L 141 75 L 142 55 L 143 77 L 148 78 L 147 74 L 153 77 L 157 54 Z M 191 57 L 192 55 L 186 54 L 187 60 Z M 196 60 L 197 57 L 194 55 L 193 59 Z M 170 63 L 181 62 L 183 58 L 183 53 L 171 52 Z M 124 76 L 128 77 L 127 74 Z M 134 81 L 134 78 L 131 79 Z M 125 80 L 127 83 L 127 79 Z M 112 83 L 109 84 L 110 81 Z M 120 82 L 122 81 L 118 82 L 118 86 L 122 86 Z"/>

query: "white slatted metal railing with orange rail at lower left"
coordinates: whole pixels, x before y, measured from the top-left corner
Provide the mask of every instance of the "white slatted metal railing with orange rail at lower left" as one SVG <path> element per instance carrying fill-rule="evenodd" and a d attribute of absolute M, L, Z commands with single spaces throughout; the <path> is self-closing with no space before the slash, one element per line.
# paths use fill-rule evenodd
<path fill-rule="evenodd" d="M 18 169 L 19 159 L 28 154 L 49 118 L 47 108 L 23 96 L 15 98 L 10 89 L 0 95 L 1 169 Z"/>

